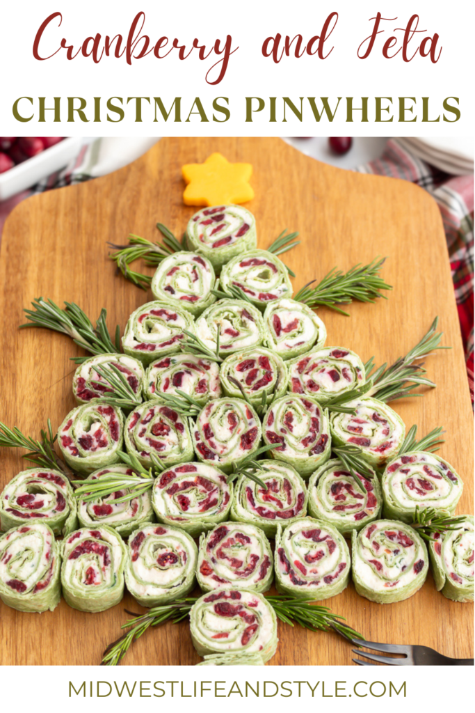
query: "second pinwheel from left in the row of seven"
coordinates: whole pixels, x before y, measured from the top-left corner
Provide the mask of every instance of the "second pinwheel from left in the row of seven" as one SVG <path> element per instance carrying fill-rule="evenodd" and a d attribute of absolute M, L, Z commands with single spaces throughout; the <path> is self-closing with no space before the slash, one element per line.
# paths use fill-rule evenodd
<path fill-rule="evenodd" d="M 103 612 L 122 600 L 127 550 L 107 525 L 81 528 L 61 543 L 61 585 L 70 607 Z"/>

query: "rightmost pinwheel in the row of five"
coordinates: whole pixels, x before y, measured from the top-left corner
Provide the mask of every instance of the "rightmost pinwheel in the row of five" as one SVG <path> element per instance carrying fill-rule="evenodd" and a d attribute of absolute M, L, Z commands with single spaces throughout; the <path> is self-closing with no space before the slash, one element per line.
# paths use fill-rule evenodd
<path fill-rule="evenodd" d="M 406 426 L 396 411 L 367 397 L 348 401 L 345 406 L 353 406 L 355 414 L 330 415 L 330 431 L 336 444 L 357 446 L 361 457 L 374 468 L 385 466 L 397 456 Z"/>

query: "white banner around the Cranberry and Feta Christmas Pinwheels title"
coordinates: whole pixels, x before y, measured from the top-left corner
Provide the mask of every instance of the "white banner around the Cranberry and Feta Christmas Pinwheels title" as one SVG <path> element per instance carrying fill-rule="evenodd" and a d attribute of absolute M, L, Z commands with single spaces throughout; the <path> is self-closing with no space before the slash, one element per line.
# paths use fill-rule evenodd
<path fill-rule="evenodd" d="M 227 8 L 227 9 L 226 9 Z M 184 61 L 177 58 L 177 50 L 165 59 L 157 60 L 153 54 L 132 61 L 128 66 L 125 57 L 106 58 L 94 64 L 92 58 L 78 56 L 67 61 L 66 51 L 61 50 L 53 58 L 37 61 L 31 51 L 33 38 L 38 27 L 54 11 L 61 11 L 61 27 L 53 21 L 41 43 L 41 52 L 55 51 L 61 39 L 78 48 L 87 36 L 100 33 L 127 36 L 130 24 L 137 11 L 145 11 L 143 33 L 148 34 L 153 43 L 160 36 L 169 38 L 169 46 L 174 37 L 191 46 L 195 37 L 210 46 L 215 39 L 224 41 L 231 34 L 233 47 L 238 51 L 231 55 L 226 76 L 217 86 L 209 86 L 205 81 L 207 70 L 214 63 L 213 56 L 200 61 L 197 50 Z M 357 48 L 370 34 L 372 21 L 378 10 L 383 16 L 395 21 L 382 23 L 385 33 L 380 35 L 369 58 L 357 58 Z M 304 41 L 319 35 L 323 22 L 330 12 L 338 11 L 338 24 L 328 39 L 325 48 L 334 46 L 330 56 L 320 60 L 317 56 L 303 56 L 300 59 L 284 57 L 281 63 L 273 63 L 271 58 L 261 54 L 263 40 L 267 36 L 281 32 L 290 37 L 302 34 Z M 416 56 L 404 63 L 401 53 L 393 59 L 382 57 L 382 43 L 389 38 L 395 28 L 404 28 L 409 17 L 419 14 L 419 29 L 427 34 L 437 32 L 438 46 L 442 47 L 439 61 L 433 64 L 429 57 Z M 56 135 L 471 135 L 473 132 L 474 98 L 471 91 L 473 76 L 469 74 L 473 58 L 471 47 L 473 30 L 473 4 L 443 4 L 422 0 L 348 2 L 315 2 L 293 0 L 292 2 L 273 0 L 241 0 L 239 4 L 224 4 L 222 0 L 180 0 L 174 2 L 142 1 L 140 4 L 115 1 L 98 2 L 82 0 L 80 3 L 65 1 L 50 2 L 24 0 L 19 3 L 4 2 L 1 11 L 2 41 L 0 46 L 0 66 L 4 68 L 1 78 L 0 125 L 4 134 L 34 135 L 36 133 Z M 426 33 L 420 34 L 423 38 Z M 402 31 L 395 36 L 402 37 Z M 420 39 L 409 45 L 409 54 L 417 48 Z M 399 46 L 399 45 L 398 45 Z M 5 68 L 7 71 L 5 71 Z M 20 124 L 14 120 L 11 107 L 21 96 L 31 96 L 36 118 L 30 123 Z M 47 123 L 36 124 L 38 118 L 38 96 L 47 98 L 46 106 L 53 106 L 53 97 L 61 96 L 62 122 L 51 123 L 47 112 Z M 67 122 L 66 97 L 81 96 L 88 101 L 86 114 L 89 123 L 76 120 Z M 93 97 L 103 98 L 103 120 L 93 121 Z M 165 106 L 171 106 L 175 96 L 182 97 L 182 123 L 153 122 L 154 112 L 144 102 L 142 123 L 135 122 L 134 102 L 126 107 L 125 119 L 119 123 L 105 120 L 105 101 L 109 97 L 160 96 Z M 208 123 L 202 123 L 198 115 L 186 122 L 194 98 L 201 98 Z M 212 100 L 219 96 L 229 98 L 231 118 L 226 123 L 212 120 Z M 269 123 L 268 106 L 256 114 L 253 123 L 245 123 L 245 97 L 260 96 L 266 103 L 268 97 L 276 96 L 277 121 Z M 338 96 L 342 97 L 337 116 L 331 125 L 327 120 L 316 123 L 310 107 L 304 101 L 303 122 L 300 123 L 290 111 L 283 123 L 282 103 L 279 98 L 290 97 L 300 106 L 299 97 L 329 98 L 334 107 Z M 360 98 L 369 98 L 369 121 L 361 123 L 360 112 L 355 113 L 355 121 L 346 124 L 345 97 L 354 97 L 354 105 L 361 106 Z M 392 123 L 374 123 L 375 96 L 392 97 L 395 119 Z M 397 98 L 416 98 L 413 123 L 397 122 Z M 461 118 L 456 123 L 422 123 L 422 96 L 429 97 L 430 118 L 442 112 L 442 101 L 449 96 L 459 97 Z M 152 100 L 153 101 L 153 100 Z M 410 103 L 410 102 L 409 102 Z M 320 102 L 317 102 L 318 106 Z M 25 116 L 29 116 L 30 104 L 21 103 Z M 387 102 L 385 102 L 387 106 Z M 222 118 L 222 115 L 216 115 Z M 386 115 L 383 115 L 386 116 Z M 409 117 L 409 113 L 407 114 Z M 116 117 L 115 117 L 116 118 Z M 451 116 L 453 118 L 453 116 Z M 442 116 L 441 116 L 442 119 Z M 331 130 L 330 130 L 331 126 Z M 349 128 L 351 128 L 349 132 Z"/>

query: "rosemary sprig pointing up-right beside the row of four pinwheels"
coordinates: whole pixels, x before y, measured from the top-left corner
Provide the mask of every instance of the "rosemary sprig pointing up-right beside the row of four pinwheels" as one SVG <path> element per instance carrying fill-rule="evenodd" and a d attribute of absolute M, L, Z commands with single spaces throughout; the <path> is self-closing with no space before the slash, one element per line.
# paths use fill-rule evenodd
<path fill-rule="evenodd" d="M 385 363 L 375 370 L 374 356 L 366 362 L 366 378 L 371 379 L 373 384 L 368 396 L 387 403 L 387 401 L 395 401 L 395 399 L 401 399 L 404 396 L 421 396 L 422 394 L 412 391 L 414 384 L 424 384 L 432 389 L 435 387 L 434 382 L 427 379 L 424 365 L 415 364 L 415 362 L 430 356 L 434 349 L 451 349 L 451 347 L 440 346 L 443 332 L 436 332 L 438 323 L 439 317 L 436 317 L 420 342 L 412 347 L 406 356 L 396 359 L 391 366 L 387 366 Z"/>

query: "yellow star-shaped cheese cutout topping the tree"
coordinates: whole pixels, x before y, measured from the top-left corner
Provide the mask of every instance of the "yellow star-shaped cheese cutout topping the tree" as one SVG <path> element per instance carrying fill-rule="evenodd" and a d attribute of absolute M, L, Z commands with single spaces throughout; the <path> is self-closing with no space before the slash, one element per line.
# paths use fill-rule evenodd
<path fill-rule="evenodd" d="M 204 163 L 187 163 L 182 174 L 188 184 L 183 193 L 185 205 L 226 205 L 254 198 L 249 185 L 251 164 L 229 163 L 221 153 L 212 153 Z"/>

